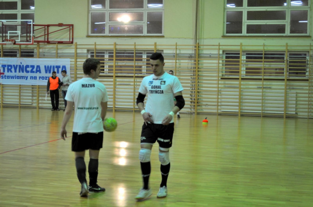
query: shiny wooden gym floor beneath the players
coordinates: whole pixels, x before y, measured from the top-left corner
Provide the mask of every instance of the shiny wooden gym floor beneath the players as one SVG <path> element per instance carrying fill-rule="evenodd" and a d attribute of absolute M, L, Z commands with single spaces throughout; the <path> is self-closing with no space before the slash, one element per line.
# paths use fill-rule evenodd
<path fill-rule="evenodd" d="M 168 197 L 161 182 L 158 144 L 152 149 L 144 201 L 138 160 L 140 113 L 108 112 L 98 184 L 106 192 L 79 196 L 72 120 L 60 139 L 63 111 L 0 109 L 0 206 L 312 206 L 313 119 L 181 114 L 175 119 Z M 88 154 L 85 157 L 89 161 Z"/>

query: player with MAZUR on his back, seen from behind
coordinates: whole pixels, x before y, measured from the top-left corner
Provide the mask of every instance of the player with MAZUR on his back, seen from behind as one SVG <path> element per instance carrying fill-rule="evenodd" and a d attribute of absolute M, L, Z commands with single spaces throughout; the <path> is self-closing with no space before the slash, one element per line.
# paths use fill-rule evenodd
<path fill-rule="evenodd" d="M 103 119 L 108 108 L 108 94 L 105 85 L 97 79 L 100 73 L 100 61 L 87 58 L 83 64 L 84 78 L 72 83 L 65 99 L 67 106 L 61 126 L 61 137 L 65 140 L 65 129 L 75 105 L 73 123 L 72 151 L 75 153 L 77 177 L 81 183 L 80 196 L 103 192 L 106 189 L 97 185 L 98 158 L 103 142 Z M 86 180 L 85 150 L 89 150 L 89 186 Z"/>

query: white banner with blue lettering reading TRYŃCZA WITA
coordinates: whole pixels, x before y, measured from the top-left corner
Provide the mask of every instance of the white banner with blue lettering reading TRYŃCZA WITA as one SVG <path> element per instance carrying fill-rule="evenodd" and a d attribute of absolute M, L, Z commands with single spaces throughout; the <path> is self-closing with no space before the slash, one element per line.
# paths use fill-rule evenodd
<path fill-rule="evenodd" d="M 52 72 L 62 80 L 61 71 L 70 74 L 70 59 L 0 58 L 0 83 L 47 85 Z"/>

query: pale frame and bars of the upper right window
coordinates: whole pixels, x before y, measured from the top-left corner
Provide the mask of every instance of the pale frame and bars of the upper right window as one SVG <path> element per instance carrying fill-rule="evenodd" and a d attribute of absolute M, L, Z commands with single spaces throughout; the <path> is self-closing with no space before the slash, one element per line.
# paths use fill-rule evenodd
<path fill-rule="evenodd" d="M 292 0 L 286 0 L 287 6 L 284 7 L 247 7 L 248 0 L 242 0 L 242 7 L 227 7 L 227 0 L 224 0 L 224 36 L 310 36 L 310 4 L 311 1 L 308 1 L 308 6 L 291 6 Z M 242 33 L 226 33 L 227 27 L 227 12 L 229 11 L 242 11 Z M 247 12 L 249 11 L 286 11 L 286 20 L 247 20 Z M 290 33 L 290 23 L 291 23 L 291 11 L 307 11 L 307 30 L 306 33 Z M 247 25 L 250 24 L 285 24 L 285 33 L 247 33 Z"/>

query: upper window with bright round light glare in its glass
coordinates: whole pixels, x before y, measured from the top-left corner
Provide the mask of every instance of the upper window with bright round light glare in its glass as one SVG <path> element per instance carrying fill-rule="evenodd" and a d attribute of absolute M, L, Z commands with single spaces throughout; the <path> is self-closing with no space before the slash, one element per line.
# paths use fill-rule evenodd
<path fill-rule="evenodd" d="M 91 36 L 163 36 L 164 0 L 89 0 Z"/>

